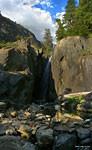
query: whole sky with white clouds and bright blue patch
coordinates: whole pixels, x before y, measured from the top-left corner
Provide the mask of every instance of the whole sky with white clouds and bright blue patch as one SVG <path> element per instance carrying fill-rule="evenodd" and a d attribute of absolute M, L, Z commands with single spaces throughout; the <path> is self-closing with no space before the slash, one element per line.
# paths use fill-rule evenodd
<path fill-rule="evenodd" d="M 46 28 L 51 30 L 55 41 L 55 18 L 61 18 L 68 0 L 0 0 L 2 15 L 32 31 L 43 41 Z M 78 0 L 76 0 L 78 3 Z"/>

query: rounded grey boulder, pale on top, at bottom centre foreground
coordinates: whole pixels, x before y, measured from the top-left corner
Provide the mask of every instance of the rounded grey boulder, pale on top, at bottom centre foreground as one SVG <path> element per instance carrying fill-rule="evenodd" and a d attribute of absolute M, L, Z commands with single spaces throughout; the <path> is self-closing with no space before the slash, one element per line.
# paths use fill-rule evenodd
<path fill-rule="evenodd" d="M 36 132 L 37 144 L 41 148 L 50 148 L 53 144 L 53 130 L 47 126 L 40 127 Z"/>

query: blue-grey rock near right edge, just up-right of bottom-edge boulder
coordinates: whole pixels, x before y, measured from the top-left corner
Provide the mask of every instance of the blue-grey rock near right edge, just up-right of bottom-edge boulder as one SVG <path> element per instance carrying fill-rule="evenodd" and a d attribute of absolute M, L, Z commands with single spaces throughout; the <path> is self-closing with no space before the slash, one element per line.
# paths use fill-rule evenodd
<path fill-rule="evenodd" d="M 83 140 L 85 138 L 90 137 L 91 136 L 91 132 L 88 129 L 81 128 L 81 129 L 77 130 L 77 135 L 78 135 L 80 140 Z"/>

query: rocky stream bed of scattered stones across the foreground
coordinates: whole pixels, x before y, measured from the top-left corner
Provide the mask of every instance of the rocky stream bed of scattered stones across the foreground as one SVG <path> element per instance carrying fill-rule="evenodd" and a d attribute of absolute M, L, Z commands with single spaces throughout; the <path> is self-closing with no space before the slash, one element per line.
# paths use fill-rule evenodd
<path fill-rule="evenodd" d="M 86 99 L 91 97 L 88 94 Z M 69 98 L 53 103 L 32 103 L 27 109 L 6 109 L 0 102 L 0 150 L 91 150 L 91 101 L 76 104 Z M 68 107 L 67 107 L 68 106 Z M 83 114 L 86 117 L 83 117 Z"/>

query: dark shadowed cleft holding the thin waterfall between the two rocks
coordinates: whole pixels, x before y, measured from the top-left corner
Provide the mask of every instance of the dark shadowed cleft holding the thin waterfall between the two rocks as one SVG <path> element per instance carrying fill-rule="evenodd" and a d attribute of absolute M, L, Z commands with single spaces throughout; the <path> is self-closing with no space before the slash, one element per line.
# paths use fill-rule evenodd
<path fill-rule="evenodd" d="M 56 99 L 57 95 L 55 92 L 54 81 L 52 79 L 51 64 L 49 62 L 49 59 L 43 57 L 42 55 L 43 53 L 38 54 L 38 61 L 37 61 L 38 65 L 36 71 L 37 74 L 36 74 L 35 87 L 33 92 L 33 99 L 35 102 L 38 101 L 51 102 Z"/>

